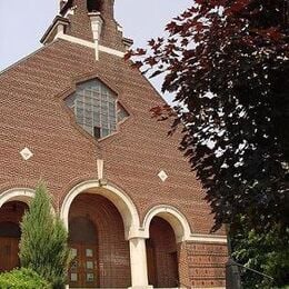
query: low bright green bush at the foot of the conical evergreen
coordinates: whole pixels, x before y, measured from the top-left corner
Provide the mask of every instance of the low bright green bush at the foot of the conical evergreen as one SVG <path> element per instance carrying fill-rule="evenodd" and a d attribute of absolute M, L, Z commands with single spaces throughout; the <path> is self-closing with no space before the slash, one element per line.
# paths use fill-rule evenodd
<path fill-rule="evenodd" d="M 14 269 L 0 275 L 1 289 L 51 289 L 51 286 L 31 269 Z"/>

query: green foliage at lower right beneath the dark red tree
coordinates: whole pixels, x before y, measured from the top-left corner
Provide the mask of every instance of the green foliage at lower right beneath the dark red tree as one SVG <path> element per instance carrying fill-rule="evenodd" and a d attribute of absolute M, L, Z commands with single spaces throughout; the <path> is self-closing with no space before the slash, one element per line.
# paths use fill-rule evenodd
<path fill-rule="evenodd" d="M 242 223 L 242 221 L 240 221 Z M 289 228 L 280 236 L 280 229 L 257 232 L 240 225 L 232 227 L 233 257 L 250 269 L 273 277 L 273 280 L 242 270 L 243 288 L 271 289 L 289 286 Z"/>

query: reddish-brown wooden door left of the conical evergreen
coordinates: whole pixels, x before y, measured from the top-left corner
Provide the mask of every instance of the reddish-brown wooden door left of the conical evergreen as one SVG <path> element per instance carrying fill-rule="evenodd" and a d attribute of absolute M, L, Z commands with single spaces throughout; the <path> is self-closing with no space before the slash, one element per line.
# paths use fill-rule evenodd
<path fill-rule="evenodd" d="M 10 271 L 20 266 L 19 238 L 0 237 L 0 272 Z"/>

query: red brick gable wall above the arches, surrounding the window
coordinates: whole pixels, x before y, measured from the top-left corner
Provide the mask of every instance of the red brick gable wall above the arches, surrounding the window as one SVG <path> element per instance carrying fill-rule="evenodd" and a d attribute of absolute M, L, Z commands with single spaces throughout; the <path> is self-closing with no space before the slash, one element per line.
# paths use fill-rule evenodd
<path fill-rule="evenodd" d="M 81 63 L 81 64 L 79 64 Z M 128 109 L 119 132 L 98 143 L 79 128 L 63 98 L 79 80 L 98 76 Z M 0 191 L 34 188 L 47 181 L 56 209 L 77 183 L 97 179 L 97 158 L 104 159 L 104 178 L 133 200 L 141 219 L 157 205 L 170 205 L 188 219 L 195 232 L 208 233 L 210 208 L 189 163 L 178 151 L 180 134 L 168 137 L 169 123 L 151 118 L 163 103 L 147 80 L 122 59 L 63 40 L 0 74 Z M 34 156 L 24 162 L 19 151 Z M 169 178 L 162 182 L 158 172 Z"/>

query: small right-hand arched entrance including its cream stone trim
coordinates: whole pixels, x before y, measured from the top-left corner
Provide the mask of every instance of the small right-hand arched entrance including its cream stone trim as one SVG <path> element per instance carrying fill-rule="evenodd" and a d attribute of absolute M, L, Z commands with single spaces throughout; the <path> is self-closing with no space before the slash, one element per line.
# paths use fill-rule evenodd
<path fill-rule="evenodd" d="M 186 263 L 181 243 L 191 237 L 186 217 L 171 206 L 156 206 L 146 215 L 142 228 L 148 239 L 146 246 L 149 285 L 176 288 L 186 283 L 187 279 L 179 267 Z"/>

